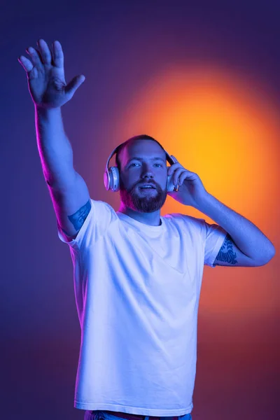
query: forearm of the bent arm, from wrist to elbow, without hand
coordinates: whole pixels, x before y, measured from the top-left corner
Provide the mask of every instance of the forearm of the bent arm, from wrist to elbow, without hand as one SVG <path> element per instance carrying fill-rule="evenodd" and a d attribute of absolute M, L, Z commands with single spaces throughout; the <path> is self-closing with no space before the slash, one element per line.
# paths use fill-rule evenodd
<path fill-rule="evenodd" d="M 265 261 L 274 255 L 274 245 L 257 226 L 213 195 L 207 193 L 196 208 L 228 232 L 240 251 L 248 257 Z"/>

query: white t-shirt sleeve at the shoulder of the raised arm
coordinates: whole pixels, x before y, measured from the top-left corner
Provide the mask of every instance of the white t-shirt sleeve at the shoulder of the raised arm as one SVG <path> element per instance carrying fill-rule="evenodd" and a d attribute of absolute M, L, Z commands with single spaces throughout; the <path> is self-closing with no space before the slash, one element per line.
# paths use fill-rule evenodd
<path fill-rule="evenodd" d="M 99 237 L 104 235 L 110 223 L 113 221 L 115 211 L 108 203 L 92 200 L 92 198 L 90 202 L 90 213 L 87 214 L 75 239 L 69 241 L 69 238 L 64 234 L 57 221 L 57 234 L 59 239 L 71 246 L 71 248 L 86 247 L 90 243 L 97 241 Z"/>

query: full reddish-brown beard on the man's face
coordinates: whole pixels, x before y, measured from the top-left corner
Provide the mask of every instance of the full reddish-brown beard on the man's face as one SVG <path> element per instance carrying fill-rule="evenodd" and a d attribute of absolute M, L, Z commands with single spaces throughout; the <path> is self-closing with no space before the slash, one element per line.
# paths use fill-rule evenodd
<path fill-rule="evenodd" d="M 141 193 L 139 184 L 127 190 L 120 180 L 120 200 L 125 206 L 140 213 L 153 213 L 162 208 L 167 199 L 167 191 L 153 184 L 157 193 Z"/>

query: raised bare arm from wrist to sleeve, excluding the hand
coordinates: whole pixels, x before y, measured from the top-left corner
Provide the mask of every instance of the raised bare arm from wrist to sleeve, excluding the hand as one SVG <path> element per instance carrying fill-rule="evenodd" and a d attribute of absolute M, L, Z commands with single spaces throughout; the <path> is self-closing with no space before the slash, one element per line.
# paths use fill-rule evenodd
<path fill-rule="evenodd" d="M 35 106 L 35 124 L 38 153 L 57 221 L 71 240 L 90 212 L 90 193 L 73 168 L 73 150 L 64 132 L 61 109 Z"/>

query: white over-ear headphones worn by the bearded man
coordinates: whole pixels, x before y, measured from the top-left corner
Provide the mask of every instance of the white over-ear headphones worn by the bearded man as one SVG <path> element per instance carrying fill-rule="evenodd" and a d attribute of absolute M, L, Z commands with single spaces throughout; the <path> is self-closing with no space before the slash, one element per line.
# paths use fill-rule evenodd
<path fill-rule="evenodd" d="M 109 156 L 106 166 L 105 166 L 105 171 L 104 171 L 104 186 L 107 191 L 111 190 L 113 193 L 116 193 L 118 190 L 120 190 L 120 174 L 118 172 L 118 167 L 116 166 L 109 167 L 109 162 L 112 156 L 116 153 L 118 147 L 119 146 L 114 148 L 113 152 Z M 176 163 L 172 159 L 172 157 L 169 155 L 169 153 L 167 153 L 167 151 L 165 151 L 165 153 L 167 155 L 167 162 L 169 162 L 170 165 L 173 165 L 174 163 Z M 174 183 L 172 182 L 172 175 L 168 175 L 167 176 L 167 193 L 172 193 L 172 191 L 178 191 L 178 187 L 177 189 L 175 188 Z"/>

